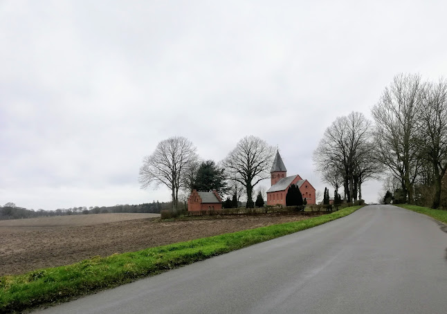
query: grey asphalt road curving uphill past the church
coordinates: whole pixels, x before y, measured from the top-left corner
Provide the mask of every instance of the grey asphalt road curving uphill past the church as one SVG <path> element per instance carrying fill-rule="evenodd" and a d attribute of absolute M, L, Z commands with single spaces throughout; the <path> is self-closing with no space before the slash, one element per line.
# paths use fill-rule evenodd
<path fill-rule="evenodd" d="M 370 205 L 37 313 L 445 314 L 446 247 L 427 216 Z"/>

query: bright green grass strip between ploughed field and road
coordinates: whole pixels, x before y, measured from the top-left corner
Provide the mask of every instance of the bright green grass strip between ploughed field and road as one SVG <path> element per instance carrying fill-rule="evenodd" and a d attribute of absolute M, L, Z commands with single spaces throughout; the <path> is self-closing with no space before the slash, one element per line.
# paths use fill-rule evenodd
<path fill-rule="evenodd" d="M 42 304 L 64 302 L 119 286 L 194 261 L 312 228 L 347 216 L 360 207 L 347 207 L 303 221 L 221 234 L 138 252 L 93 257 L 73 265 L 35 270 L 24 275 L 3 276 L 0 277 L 0 313 L 14 313 Z"/>

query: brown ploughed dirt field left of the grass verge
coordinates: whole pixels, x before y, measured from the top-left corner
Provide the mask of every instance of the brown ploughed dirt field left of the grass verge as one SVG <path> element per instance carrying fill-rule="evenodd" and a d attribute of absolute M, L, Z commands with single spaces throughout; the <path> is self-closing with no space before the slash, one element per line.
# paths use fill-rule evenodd
<path fill-rule="evenodd" d="M 109 216 L 106 217 L 107 215 Z M 45 221 L 0 221 L 0 276 L 73 264 L 95 255 L 108 256 L 309 218 L 302 215 L 248 216 L 156 222 L 153 218 L 142 219 L 138 215 L 147 214 L 65 216 L 74 217 L 72 221 L 60 219 L 64 217 L 51 217 L 44 219 Z M 77 220 L 84 217 L 89 219 Z M 113 222 L 101 223 L 104 220 Z"/>

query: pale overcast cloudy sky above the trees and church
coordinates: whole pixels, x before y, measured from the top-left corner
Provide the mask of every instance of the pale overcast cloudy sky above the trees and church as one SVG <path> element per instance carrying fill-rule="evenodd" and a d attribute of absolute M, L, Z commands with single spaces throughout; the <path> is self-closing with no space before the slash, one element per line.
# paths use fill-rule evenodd
<path fill-rule="evenodd" d="M 324 190 L 325 129 L 395 75 L 447 75 L 446 1 L 0 0 L 0 205 L 170 201 L 143 157 L 185 136 L 219 162 L 244 136 Z M 269 180 L 262 185 L 269 187 Z M 376 202 L 380 181 L 363 184 Z"/>

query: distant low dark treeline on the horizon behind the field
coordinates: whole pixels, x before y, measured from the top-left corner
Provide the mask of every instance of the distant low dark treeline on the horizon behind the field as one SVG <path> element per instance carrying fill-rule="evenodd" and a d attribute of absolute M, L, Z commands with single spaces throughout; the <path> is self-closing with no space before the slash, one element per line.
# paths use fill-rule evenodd
<path fill-rule="evenodd" d="M 170 202 L 158 202 L 143 203 L 139 205 L 114 205 L 114 206 L 80 206 L 70 208 L 58 208 L 57 210 L 33 210 L 26 209 L 24 207 L 18 207 L 14 203 L 6 203 L 0 206 L 0 220 L 6 219 L 24 219 L 35 218 L 42 216 L 66 216 L 66 215 L 78 215 L 78 214 L 107 214 L 107 213 L 156 213 L 159 214 L 162 210 L 172 207 Z"/>

